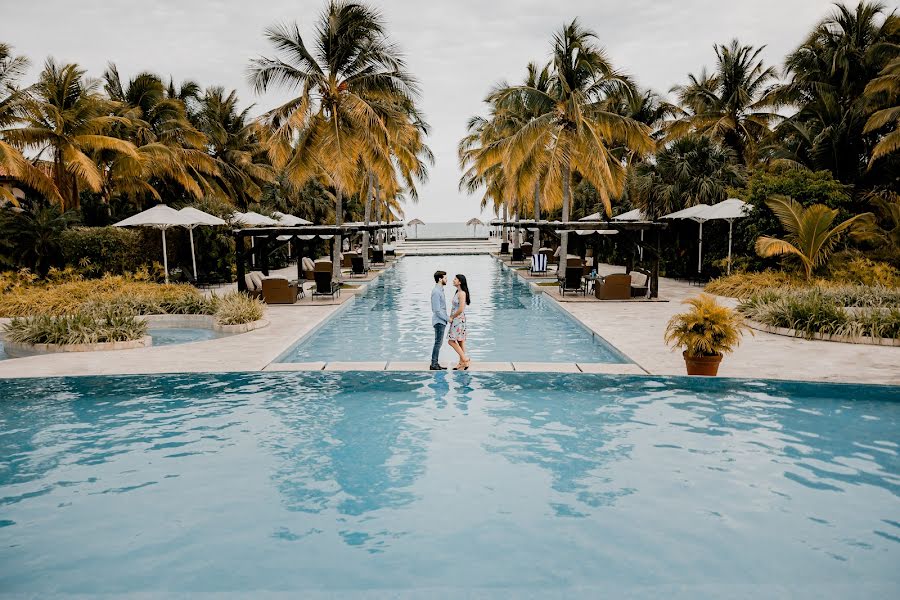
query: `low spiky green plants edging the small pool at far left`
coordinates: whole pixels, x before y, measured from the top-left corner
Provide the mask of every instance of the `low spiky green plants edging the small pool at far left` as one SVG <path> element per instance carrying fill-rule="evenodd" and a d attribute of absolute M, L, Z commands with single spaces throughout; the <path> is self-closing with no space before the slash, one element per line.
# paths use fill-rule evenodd
<path fill-rule="evenodd" d="M 16 317 L 5 331 L 9 341 L 23 344 L 96 344 L 140 339 L 147 335 L 147 323 L 120 307 Z"/>

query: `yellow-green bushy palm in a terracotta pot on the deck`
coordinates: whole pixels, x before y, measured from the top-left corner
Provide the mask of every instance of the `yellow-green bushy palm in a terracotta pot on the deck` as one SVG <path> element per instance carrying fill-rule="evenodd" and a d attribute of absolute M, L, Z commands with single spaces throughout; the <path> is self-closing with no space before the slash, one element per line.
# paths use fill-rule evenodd
<path fill-rule="evenodd" d="M 669 320 L 666 343 L 684 348 L 688 375 L 715 376 L 722 356 L 737 348 L 741 335 L 749 328 L 737 311 L 722 306 L 708 294 L 688 298 L 684 303 L 691 308 Z"/>

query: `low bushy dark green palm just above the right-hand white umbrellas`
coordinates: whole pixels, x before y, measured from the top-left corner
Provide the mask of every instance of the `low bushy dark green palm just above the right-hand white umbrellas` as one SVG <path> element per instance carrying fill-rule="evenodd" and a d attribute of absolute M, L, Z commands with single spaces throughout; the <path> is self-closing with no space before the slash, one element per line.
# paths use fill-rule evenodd
<path fill-rule="evenodd" d="M 655 160 L 634 167 L 629 178 L 632 204 L 645 215 L 662 215 L 728 197 L 729 187 L 745 181 L 734 151 L 705 136 L 681 138 L 656 153 Z"/>

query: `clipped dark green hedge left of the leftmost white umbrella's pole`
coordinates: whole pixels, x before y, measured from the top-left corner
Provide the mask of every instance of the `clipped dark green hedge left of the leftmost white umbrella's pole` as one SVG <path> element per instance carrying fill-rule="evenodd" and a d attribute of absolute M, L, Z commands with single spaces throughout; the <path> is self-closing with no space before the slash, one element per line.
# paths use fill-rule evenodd
<path fill-rule="evenodd" d="M 73 227 L 62 232 L 59 243 L 66 265 L 79 267 L 88 275 L 122 275 L 152 262 L 137 230 Z"/>

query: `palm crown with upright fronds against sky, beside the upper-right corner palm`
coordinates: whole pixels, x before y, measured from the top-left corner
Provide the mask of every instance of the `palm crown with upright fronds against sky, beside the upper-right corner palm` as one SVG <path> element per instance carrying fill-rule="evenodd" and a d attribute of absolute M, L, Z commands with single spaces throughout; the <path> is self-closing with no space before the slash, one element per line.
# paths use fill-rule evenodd
<path fill-rule="evenodd" d="M 744 46 L 738 40 L 713 47 L 715 73 L 689 75 L 687 85 L 672 88 L 681 110 L 667 131 L 671 138 L 691 132 L 707 135 L 731 148 L 743 164 L 752 165 L 774 119 L 763 95 L 776 72 L 759 58 L 764 47 Z"/>

